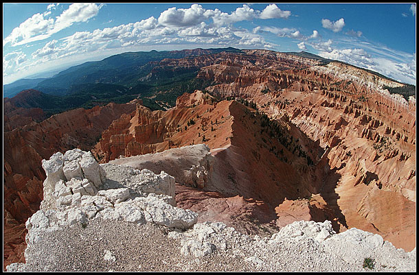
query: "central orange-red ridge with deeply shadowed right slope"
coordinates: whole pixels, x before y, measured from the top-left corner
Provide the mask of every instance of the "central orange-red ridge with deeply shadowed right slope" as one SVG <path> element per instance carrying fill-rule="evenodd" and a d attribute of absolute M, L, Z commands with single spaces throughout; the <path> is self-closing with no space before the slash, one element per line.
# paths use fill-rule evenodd
<path fill-rule="evenodd" d="M 126 140 L 122 150 L 119 137 L 126 134 L 131 141 Z M 106 163 L 117 157 L 115 147 L 121 156 L 133 156 L 133 152 L 148 154 L 196 143 L 208 145 L 215 158 L 212 180 L 199 190 L 178 187 L 178 206 L 192 207 L 205 219 L 234 224 L 243 232 L 262 233 L 256 224 L 273 232 L 275 206 L 285 198 L 318 193 L 327 171 L 317 152 L 319 144 L 306 139 L 288 117 L 269 122 L 237 101 L 217 102 L 200 91 L 182 95 L 177 106 L 165 112 L 137 105 L 130 117 L 114 121 L 104 131 L 95 154 Z M 321 219 L 317 212 L 323 213 L 325 207 L 312 206 L 313 216 Z"/>

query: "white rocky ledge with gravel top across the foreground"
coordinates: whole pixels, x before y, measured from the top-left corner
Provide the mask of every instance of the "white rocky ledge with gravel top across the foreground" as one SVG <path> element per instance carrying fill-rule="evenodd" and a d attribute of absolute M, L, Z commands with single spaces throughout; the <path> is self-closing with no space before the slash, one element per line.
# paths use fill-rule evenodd
<path fill-rule="evenodd" d="M 26 222 L 26 263 L 8 271 L 416 271 L 416 249 L 299 221 L 270 237 L 175 207 L 172 176 L 99 165 L 70 150 L 43 160 L 41 209 Z"/>

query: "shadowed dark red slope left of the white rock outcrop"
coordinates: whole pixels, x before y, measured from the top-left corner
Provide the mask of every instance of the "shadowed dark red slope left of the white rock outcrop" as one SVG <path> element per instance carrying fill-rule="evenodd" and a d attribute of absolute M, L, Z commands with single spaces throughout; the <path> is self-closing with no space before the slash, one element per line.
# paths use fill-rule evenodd
<path fill-rule="evenodd" d="M 75 147 L 90 150 L 114 119 L 133 110 L 135 103 L 79 108 L 3 133 L 3 241 L 7 248 L 3 267 L 23 259 L 19 256 L 24 249 L 21 232 L 43 197 L 45 172 L 41 160 Z"/>

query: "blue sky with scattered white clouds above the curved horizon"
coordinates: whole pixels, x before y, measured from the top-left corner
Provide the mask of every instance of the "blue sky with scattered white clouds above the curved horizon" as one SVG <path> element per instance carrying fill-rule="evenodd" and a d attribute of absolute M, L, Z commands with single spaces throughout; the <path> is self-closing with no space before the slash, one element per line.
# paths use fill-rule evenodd
<path fill-rule="evenodd" d="M 3 84 L 214 47 L 308 51 L 416 85 L 416 3 L 3 3 Z"/>

